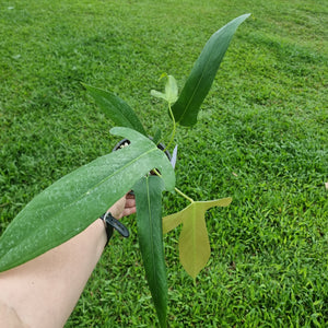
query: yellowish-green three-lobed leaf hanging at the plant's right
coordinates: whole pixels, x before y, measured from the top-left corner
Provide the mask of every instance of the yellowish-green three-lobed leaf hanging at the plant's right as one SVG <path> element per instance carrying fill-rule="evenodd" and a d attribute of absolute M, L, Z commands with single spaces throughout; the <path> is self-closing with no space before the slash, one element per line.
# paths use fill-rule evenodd
<path fill-rule="evenodd" d="M 194 201 L 180 212 L 163 218 L 163 233 L 183 223 L 179 236 L 179 258 L 183 267 L 195 280 L 210 258 L 210 243 L 206 226 L 206 211 L 213 207 L 226 207 L 231 198 L 211 201 Z"/>

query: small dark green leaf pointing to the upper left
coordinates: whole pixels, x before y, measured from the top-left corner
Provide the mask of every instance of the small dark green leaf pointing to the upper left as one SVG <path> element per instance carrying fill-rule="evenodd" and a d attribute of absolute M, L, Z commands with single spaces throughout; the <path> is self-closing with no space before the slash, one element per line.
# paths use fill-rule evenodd
<path fill-rule="evenodd" d="M 93 96 L 103 113 L 117 126 L 133 129 L 143 136 L 147 132 L 134 110 L 120 97 L 102 89 L 83 84 L 89 94 Z"/>

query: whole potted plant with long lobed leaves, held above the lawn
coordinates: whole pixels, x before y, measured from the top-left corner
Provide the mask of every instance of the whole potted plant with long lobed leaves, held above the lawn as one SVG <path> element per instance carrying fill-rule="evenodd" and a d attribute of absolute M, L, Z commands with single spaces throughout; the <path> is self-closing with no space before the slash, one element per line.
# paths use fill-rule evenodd
<path fill-rule="evenodd" d="M 165 92 L 151 94 L 167 104 L 172 120 L 168 140 L 161 130 L 149 138 L 133 109 L 110 92 L 84 85 L 90 95 L 116 125 L 110 133 L 129 141 L 128 147 L 110 152 L 66 175 L 36 196 L 11 222 L 0 238 L 0 272 L 24 263 L 82 232 L 126 192 L 133 190 L 137 226 L 147 280 L 161 327 L 166 327 L 167 279 L 163 234 L 181 224 L 179 258 L 188 274 L 196 279 L 210 257 L 204 220 L 212 207 L 226 207 L 231 198 L 195 201 L 175 186 L 177 125 L 197 122 L 230 42 L 249 14 L 242 15 L 215 32 L 197 59 L 180 94 L 172 75 Z M 166 148 L 157 145 L 164 142 Z M 167 150 L 172 151 L 171 159 Z M 162 218 L 163 191 L 173 191 L 189 201 L 181 211 Z M 81 215 L 83 213 L 83 215 Z"/>

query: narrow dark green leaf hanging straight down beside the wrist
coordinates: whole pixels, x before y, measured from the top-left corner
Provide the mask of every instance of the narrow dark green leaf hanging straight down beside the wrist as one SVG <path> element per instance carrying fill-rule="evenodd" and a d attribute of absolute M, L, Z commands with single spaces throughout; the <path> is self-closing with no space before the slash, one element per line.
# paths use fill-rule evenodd
<path fill-rule="evenodd" d="M 163 181 L 157 176 L 141 178 L 133 187 L 140 250 L 147 280 L 161 327 L 166 327 L 167 281 L 162 233 Z"/>

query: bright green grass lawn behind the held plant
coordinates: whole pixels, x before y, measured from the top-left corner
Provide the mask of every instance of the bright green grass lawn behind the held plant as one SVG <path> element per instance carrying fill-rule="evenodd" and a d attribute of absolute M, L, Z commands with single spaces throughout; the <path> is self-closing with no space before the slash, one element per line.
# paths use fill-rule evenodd
<path fill-rule="evenodd" d="M 328 325 L 326 1 L 2 1 L 0 233 L 40 190 L 117 142 L 80 82 L 112 90 L 148 129 L 150 97 L 183 85 L 208 37 L 243 13 L 199 125 L 178 129 L 178 187 L 207 200 L 212 256 L 196 284 L 165 236 L 171 327 Z M 326 84 L 326 85 L 325 85 Z M 160 115 L 160 112 L 163 115 Z M 184 207 L 165 197 L 164 212 Z M 133 218 L 67 327 L 153 327 Z"/>

